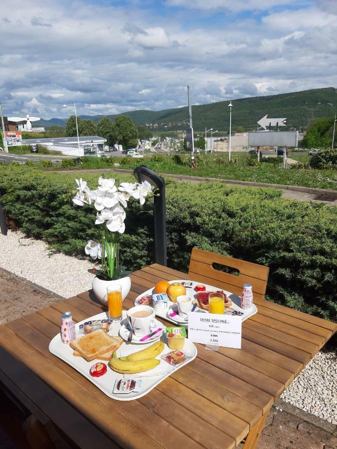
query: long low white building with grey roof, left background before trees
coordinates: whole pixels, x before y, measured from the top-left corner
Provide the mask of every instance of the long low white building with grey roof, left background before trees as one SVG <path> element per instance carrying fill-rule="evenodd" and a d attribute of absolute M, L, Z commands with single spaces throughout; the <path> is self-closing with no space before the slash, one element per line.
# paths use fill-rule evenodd
<path fill-rule="evenodd" d="M 25 139 L 22 145 L 43 145 L 48 150 L 59 151 L 67 156 L 97 156 L 104 150 L 106 139 L 99 136 L 85 136 L 79 138 L 79 150 L 77 137 L 54 137 L 50 139 Z"/>

